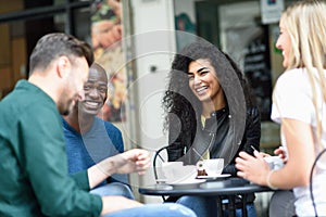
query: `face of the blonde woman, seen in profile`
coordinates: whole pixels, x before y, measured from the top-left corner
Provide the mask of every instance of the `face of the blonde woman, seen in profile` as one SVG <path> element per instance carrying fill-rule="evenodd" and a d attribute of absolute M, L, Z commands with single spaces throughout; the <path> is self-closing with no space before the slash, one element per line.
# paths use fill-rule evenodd
<path fill-rule="evenodd" d="M 279 37 L 276 41 L 276 48 L 280 49 L 283 52 L 283 66 L 288 67 L 289 65 L 289 54 L 291 50 L 291 38 L 288 30 L 285 27 L 284 18 L 279 22 Z"/>

